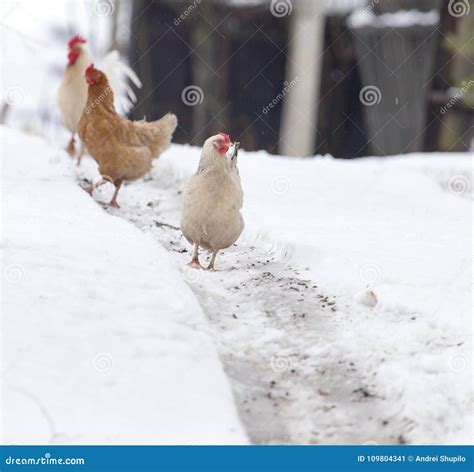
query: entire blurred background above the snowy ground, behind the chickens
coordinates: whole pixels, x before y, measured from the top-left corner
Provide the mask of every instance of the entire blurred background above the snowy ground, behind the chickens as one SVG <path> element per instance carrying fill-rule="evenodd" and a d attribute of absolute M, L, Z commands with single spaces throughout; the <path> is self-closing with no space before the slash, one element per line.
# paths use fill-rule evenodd
<path fill-rule="evenodd" d="M 130 117 L 173 111 L 175 141 L 339 158 L 469 151 L 471 0 L 51 0 L 1 5 L 1 121 L 64 144 L 67 41 L 117 49 L 143 87 Z M 97 58 L 97 60 L 96 60 Z"/>

